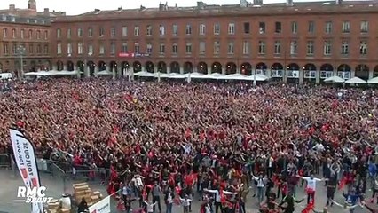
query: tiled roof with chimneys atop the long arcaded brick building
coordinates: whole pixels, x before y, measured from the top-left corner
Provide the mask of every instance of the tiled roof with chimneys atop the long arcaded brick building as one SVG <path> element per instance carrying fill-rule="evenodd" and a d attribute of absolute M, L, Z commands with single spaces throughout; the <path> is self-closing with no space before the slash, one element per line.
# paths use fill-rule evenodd
<path fill-rule="evenodd" d="M 208 5 L 203 2 L 198 2 L 196 6 L 179 7 L 176 5 L 169 6 L 168 4 L 160 4 L 156 8 L 145 8 L 143 5 L 138 9 L 122 9 L 101 11 L 95 9 L 91 12 L 75 16 L 61 16 L 56 17 L 53 21 L 56 22 L 71 22 L 71 21 L 91 21 L 91 20 L 142 20 L 152 18 L 195 18 L 205 17 L 211 14 L 212 16 L 226 16 L 231 14 L 238 14 L 238 16 L 246 16 L 256 14 L 260 16 L 280 14 L 293 15 L 301 13 L 329 13 L 337 12 L 353 13 L 353 12 L 378 12 L 378 0 L 372 1 L 323 1 L 323 2 L 292 2 L 287 0 L 287 3 L 280 4 L 263 4 L 262 0 L 254 0 L 254 3 L 248 3 L 241 0 L 240 4 L 227 5 Z"/>

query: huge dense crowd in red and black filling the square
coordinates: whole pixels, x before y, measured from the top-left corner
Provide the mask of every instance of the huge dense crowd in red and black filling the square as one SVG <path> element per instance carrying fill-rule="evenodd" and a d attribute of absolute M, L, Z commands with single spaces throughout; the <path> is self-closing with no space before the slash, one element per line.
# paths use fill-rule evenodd
<path fill-rule="evenodd" d="M 311 212 L 318 182 L 327 206 L 353 212 L 368 206 L 366 188 L 378 192 L 374 90 L 105 79 L 2 89 L 2 152 L 14 126 L 44 158 L 109 169 L 108 192 L 120 190 L 127 212 L 138 201 L 145 212 L 179 204 L 186 213 L 200 198 L 203 213 L 246 213 L 248 193 L 261 212 L 293 213 L 295 202 Z"/>

